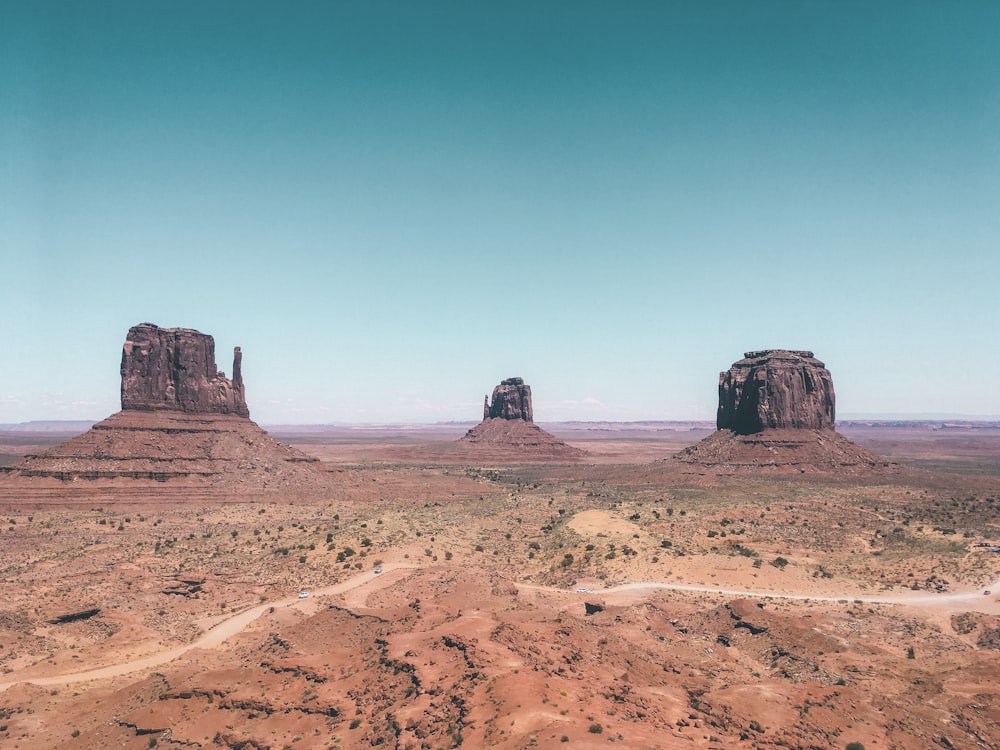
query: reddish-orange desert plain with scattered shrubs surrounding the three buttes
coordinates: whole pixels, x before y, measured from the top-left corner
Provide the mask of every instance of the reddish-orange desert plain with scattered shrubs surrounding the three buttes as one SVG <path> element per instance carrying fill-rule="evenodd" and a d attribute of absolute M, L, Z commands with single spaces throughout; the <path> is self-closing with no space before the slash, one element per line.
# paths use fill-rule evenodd
<path fill-rule="evenodd" d="M 0 747 L 1000 747 L 1000 425 L 839 425 L 870 473 L 468 427 L 269 428 L 323 488 L 0 479 Z"/>

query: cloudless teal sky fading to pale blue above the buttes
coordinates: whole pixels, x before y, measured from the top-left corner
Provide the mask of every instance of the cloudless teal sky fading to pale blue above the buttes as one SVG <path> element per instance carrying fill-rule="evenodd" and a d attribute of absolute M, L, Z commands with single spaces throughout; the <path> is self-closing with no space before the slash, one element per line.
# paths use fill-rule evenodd
<path fill-rule="evenodd" d="M 1000 414 L 1000 3 L 0 0 L 0 422 L 129 326 L 263 423 Z"/>

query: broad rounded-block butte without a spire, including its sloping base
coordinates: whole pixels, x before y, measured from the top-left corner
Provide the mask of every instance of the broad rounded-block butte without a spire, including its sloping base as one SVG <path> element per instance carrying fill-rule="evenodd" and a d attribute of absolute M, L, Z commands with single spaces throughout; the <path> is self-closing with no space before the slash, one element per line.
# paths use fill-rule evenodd
<path fill-rule="evenodd" d="M 719 374 L 717 431 L 675 460 L 721 472 L 865 474 L 891 464 L 835 430 L 833 378 L 812 352 L 747 352 Z"/>

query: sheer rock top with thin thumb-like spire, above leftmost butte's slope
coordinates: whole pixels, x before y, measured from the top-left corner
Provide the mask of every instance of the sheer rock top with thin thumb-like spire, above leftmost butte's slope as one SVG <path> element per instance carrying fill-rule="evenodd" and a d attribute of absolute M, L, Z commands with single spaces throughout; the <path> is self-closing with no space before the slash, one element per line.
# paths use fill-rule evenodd
<path fill-rule="evenodd" d="M 122 349 L 122 410 L 182 411 L 250 417 L 243 353 L 233 352 L 233 379 L 215 364 L 215 339 L 190 328 L 132 326 Z"/>

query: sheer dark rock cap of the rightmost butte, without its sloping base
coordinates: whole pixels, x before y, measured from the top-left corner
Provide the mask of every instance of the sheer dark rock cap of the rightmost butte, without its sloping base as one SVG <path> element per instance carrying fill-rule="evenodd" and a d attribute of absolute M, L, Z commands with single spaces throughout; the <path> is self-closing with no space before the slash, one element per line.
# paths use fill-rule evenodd
<path fill-rule="evenodd" d="M 833 378 L 812 352 L 747 352 L 719 374 L 716 425 L 738 435 L 767 429 L 832 430 Z"/>

